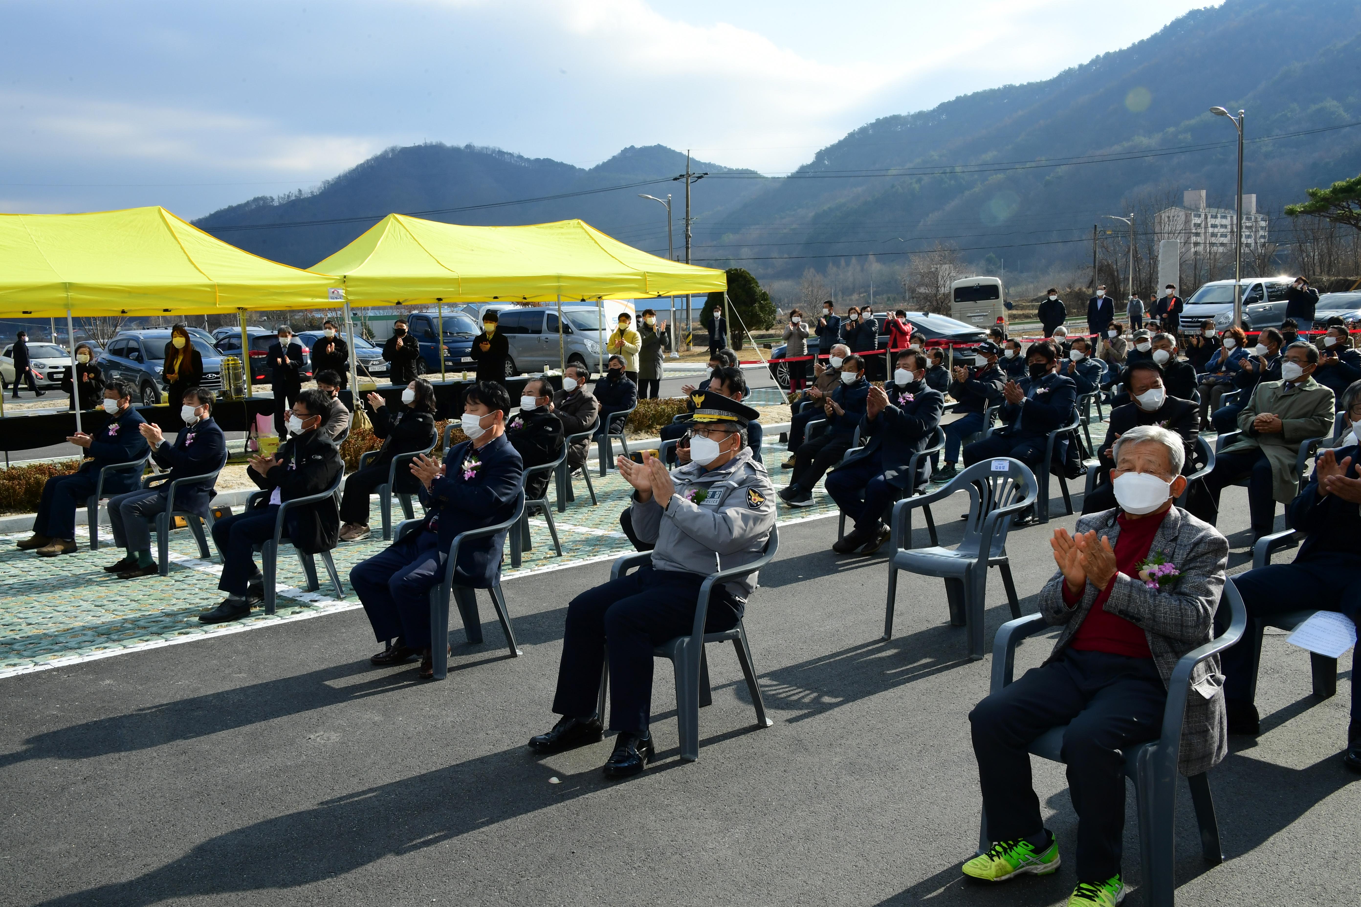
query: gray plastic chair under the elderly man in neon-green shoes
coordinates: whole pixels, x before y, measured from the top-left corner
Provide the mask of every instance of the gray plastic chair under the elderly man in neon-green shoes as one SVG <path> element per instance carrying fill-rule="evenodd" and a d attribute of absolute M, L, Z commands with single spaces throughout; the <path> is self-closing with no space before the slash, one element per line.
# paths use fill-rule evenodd
<path fill-rule="evenodd" d="M 1168 683 L 1168 706 L 1162 713 L 1162 734 L 1153 741 L 1131 747 L 1124 755 L 1124 774 L 1134 782 L 1138 798 L 1139 817 L 1139 862 L 1143 869 L 1143 903 L 1150 907 L 1173 907 L 1176 904 L 1176 813 L 1177 813 L 1177 757 L 1181 752 L 1181 719 L 1185 713 L 1187 694 L 1191 692 L 1191 670 L 1206 658 L 1215 655 L 1243 636 L 1248 623 L 1248 612 L 1233 581 L 1224 583 L 1219 605 L 1229 602 L 1233 619 L 1224 635 L 1199 646 L 1183 655 L 1172 670 Z M 1043 615 L 1026 615 L 1010 620 L 998 628 L 992 642 L 992 692 L 1011 683 L 1015 670 L 1015 650 L 1021 640 L 1037 632 L 1049 630 Z M 1041 759 L 1063 761 L 1063 733 L 1067 725 L 1051 728 L 1030 744 L 1030 752 Z M 1210 797 L 1207 772 L 1187 778 L 1191 785 L 1191 802 L 1195 806 L 1196 824 L 1200 827 L 1200 850 L 1206 862 L 1222 863 L 1224 851 L 1219 846 L 1219 825 L 1214 817 L 1214 800 Z M 988 823 L 984 817 L 979 831 L 979 853 L 992 844 L 988 839 Z"/>

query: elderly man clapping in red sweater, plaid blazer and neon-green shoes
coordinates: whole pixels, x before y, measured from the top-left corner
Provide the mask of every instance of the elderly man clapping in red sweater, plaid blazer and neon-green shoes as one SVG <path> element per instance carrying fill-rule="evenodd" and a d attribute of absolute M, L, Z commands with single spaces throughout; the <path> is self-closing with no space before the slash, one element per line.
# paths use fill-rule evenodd
<path fill-rule="evenodd" d="M 1113 907 L 1123 897 L 1124 751 L 1158 737 L 1177 660 L 1209 642 L 1224 589 L 1229 543 L 1173 502 L 1185 488 L 1181 438 L 1139 426 L 1115 443 L 1119 507 L 1053 533 L 1057 572 L 1040 611 L 1063 632 L 1044 666 L 984 699 L 969 715 L 992 847 L 966 876 L 1003 881 L 1059 868 L 1030 786 L 1026 748 L 1068 725 L 1063 757 L 1078 813 L 1078 887 L 1070 904 Z M 1217 658 L 1191 676 L 1181 772 L 1199 774 L 1228 753 Z M 1204 688 L 1210 696 L 1195 688 Z"/>

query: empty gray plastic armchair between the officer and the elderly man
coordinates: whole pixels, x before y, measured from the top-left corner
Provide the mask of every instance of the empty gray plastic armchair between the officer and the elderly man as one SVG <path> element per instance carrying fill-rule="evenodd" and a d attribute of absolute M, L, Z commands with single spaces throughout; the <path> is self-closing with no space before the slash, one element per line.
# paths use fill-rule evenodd
<path fill-rule="evenodd" d="M 912 509 L 945 500 L 957 491 L 969 492 L 969 519 L 958 548 L 904 548 L 912 544 Z M 976 462 L 958 473 L 943 488 L 927 495 L 904 498 L 893 504 L 889 558 L 889 602 L 883 613 L 883 639 L 893 638 L 893 606 L 898 592 L 898 571 L 945 579 L 950 605 L 950 626 L 969 628 L 969 658 L 984 655 L 983 609 L 988 567 L 1002 571 L 1011 616 L 1021 616 L 1011 564 L 1007 560 L 1007 532 L 1011 514 L 1034 503 L 1038 483 L 1019 460 L 998 457 Z"/>

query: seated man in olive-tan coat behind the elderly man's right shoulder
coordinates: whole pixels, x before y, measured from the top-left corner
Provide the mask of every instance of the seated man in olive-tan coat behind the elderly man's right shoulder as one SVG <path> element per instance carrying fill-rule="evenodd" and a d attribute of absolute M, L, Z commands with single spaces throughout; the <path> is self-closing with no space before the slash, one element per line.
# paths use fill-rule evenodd
<path fill-rule="evenodd" d="M 1286 347 L 1282 381 L 1263 381 L 1252 392 L 1252 400 L 1239 413 L 1241 434 L 1219 451 L 1214 470 L 1204 477 L 1210 500 L 1191 507 L 1192 513 L 1202 510 L 1196 517 L 1214 524 L 1219 491 L 1247 479 L 1253 543 L 1271 532 L 1275 502 L 1289 504 L 1300 492 L 1296 465 L 1300 445 L 1332 435 L 1332 389 L 1313 379 L 1317 364 L 1319 349 L 1313 344 L 1300 341 Z"/>

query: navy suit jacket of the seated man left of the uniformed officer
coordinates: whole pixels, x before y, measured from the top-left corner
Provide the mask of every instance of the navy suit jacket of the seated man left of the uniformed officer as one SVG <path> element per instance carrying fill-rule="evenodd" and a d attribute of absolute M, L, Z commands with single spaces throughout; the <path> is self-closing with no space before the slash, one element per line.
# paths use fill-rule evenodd
<path fill-rule="evenodd" d="M 471 441 L 455 445 L 444 457 L 444 475 L 429 491 L 421 485 L 421 503 L 429 509 L 425 529 L 437 532 L 440 548 L 448 552 L 459 533 L 509 519 L 523 485 L 524 461 L 505 435 L 482 449 L 474 449 Z M 501 572 L 505 538 L 506 533 L 498 532 L 459 545 L 456 582 L 475 589 L 490 587 Z"/>

